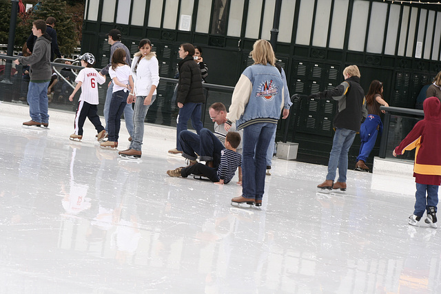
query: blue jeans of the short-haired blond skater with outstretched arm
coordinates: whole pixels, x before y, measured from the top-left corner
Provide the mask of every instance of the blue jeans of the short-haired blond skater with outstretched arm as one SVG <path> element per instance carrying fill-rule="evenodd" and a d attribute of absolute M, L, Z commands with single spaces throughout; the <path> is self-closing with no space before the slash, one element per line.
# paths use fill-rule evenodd
<path fill-rule="evenodd" d="M 329 155 L 328 174 L 326 180 L 335 180 L 338 167 L 338 182 L 346 182 L 347 153 L 356 137 L 356 131 L 338 127 L 332 141 L 331 154 Z"/>

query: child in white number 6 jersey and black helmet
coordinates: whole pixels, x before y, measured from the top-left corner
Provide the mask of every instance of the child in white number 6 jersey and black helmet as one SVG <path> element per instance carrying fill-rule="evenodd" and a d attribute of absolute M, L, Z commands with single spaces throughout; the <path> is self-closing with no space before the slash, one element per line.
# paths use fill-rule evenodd
<path fill-rule="evenodd" d="M 98 111 L 97 105 L 99 104 L 98 83 L 100 85 L 103 84 L 105 77 L 101 76 L 101 74 L 93 68 L 95 57 L 92 54 L 85 53 L 79 58 L 81 59 L 81 65 L 85 68 L 80 70 L 78 76 L 75 78 L 77 84 L 74 92 L 69 96 L 69 101 L 73 101 L 76 92 L 81 87 L 81 95 L 74 122 L 74 134 L 70 135 L 70 140 L 81 140 L 81 138 L 83 138 L 83 125 L 87 117 L 95 126 L 96 132 L 98 132 L 98 140 L 101 142 L 105 137 L 105 129 L 103 125 L 101 125 L 101 120 L 96 112 Z"/>

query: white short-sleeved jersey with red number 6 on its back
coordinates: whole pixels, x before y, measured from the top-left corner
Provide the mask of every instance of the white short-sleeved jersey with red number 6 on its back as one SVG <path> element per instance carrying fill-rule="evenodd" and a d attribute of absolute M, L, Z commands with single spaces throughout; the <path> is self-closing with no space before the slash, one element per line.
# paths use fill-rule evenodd
<path fill-rule="evenodd" d="M 92 67 L 85 67 L 80 70 L 75 78 L 76 83 L 81 82 L 81 96 L 79 101 L 84 101 L 92 105 L 98 105 L 98 84 L 105 82 L 105 77 L 101 76 Z"/>

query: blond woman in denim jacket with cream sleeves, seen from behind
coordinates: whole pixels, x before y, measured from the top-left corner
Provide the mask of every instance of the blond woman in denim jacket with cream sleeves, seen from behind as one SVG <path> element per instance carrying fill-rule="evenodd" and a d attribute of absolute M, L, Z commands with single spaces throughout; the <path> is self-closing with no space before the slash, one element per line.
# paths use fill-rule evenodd
<path fill-rule="evenodd" d="M 234 87 L 225 129 L 229 130 L 232 123 L 243 129 L 242 195 L 232 198 L 232 202 L 260 207 L 265 191 L 268 145 L 285 105 L 285 88 L 268 41 L 256 41 L 250 54 L 254 64 L 243 71 Z M 283 109 L 283 116 L 288 114 L 289 110 Z"/>

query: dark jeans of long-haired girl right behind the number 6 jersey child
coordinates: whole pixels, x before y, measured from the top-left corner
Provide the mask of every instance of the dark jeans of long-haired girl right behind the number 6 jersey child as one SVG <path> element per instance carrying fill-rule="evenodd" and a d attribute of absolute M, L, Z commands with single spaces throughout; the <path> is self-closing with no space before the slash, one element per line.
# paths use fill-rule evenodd
<path fill-rule="evenodd" d="M 124 90 L 114 92 L 112 95 L 109 108 L 109 122 L 107 124 L 109 141 L 111 142 L 118 142 L 121 115 L 124 112 L 125 105 L 127 105 L 127 96 L 129 96 L 129 92 L 124 92 Z"/>

